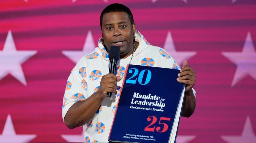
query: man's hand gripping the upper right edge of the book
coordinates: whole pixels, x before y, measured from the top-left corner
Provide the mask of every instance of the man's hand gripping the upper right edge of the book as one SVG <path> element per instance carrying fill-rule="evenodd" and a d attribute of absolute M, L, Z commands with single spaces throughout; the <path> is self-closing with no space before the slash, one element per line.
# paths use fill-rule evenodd
<path fill-rule="evenodd" d="M 186 84 L 186 92 L 190 91 L 196 83 L 196 74 L 195 71 L 188 66 L 188 62 L 184 61 L 182 69 L 178 74 L 177 81 L 180 83 Z"/>

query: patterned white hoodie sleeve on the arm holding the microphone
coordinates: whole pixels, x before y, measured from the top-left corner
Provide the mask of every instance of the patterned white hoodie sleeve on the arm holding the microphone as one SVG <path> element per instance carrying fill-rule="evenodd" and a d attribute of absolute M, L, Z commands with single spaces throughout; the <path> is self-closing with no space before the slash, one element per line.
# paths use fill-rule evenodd
<path fill-rule="evenodd" d="M 68 109 L 76 102 L 82 101 L 88 98 L 87 94 L 87 76 L 86 76 L 86 67 L 78 68 L 76 65 L 67 81 L 65 94 L 63 98 L 62 106 L 62 120 L 68 111 Z"/>

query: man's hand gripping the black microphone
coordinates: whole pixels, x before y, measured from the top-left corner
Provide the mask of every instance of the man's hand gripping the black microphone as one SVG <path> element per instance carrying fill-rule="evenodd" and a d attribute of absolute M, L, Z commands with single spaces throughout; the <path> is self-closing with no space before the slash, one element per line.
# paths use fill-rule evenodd
<path fill-rule="evenodd" d="M 102 99 L 107 97 L 107 93 L 116 93 L 117 81 L 120 79 L 120 76 L 115 76 L 112 73 L 102 76 L 100 81 L 100 88 L 97 91 Z"/>

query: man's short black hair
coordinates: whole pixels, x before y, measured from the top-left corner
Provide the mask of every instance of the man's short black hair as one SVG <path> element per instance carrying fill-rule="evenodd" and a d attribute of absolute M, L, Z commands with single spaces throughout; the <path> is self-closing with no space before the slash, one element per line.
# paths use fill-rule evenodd
<path fill-rule="evenodd" d="M 113 3 L 109 6 L 107 6 L 100 14 L 100 27 L 101 28 L 102 28 L 102 18 L 104 16 L 104 14 L 111 13 L 111 12 L 125 12 L 128 14 L 131 24 L 134 23 L 132 12 L 128 7 L 126 7 L 125 5 L 119 4 L 119 3 Z"/>

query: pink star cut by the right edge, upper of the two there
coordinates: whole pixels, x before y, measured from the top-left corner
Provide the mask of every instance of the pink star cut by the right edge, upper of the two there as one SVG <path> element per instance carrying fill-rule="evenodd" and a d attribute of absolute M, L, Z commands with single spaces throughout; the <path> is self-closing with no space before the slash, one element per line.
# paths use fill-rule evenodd
<path fill-rule="evenodd" d="M 222 52 L 222 55 L 237 65 L 231 86 L 246 75 L 251 75 L 256 80 L 256 52 L 250 32 L 247 33 L 242 52 Z"/>

